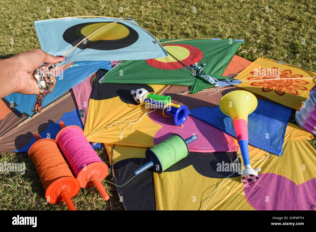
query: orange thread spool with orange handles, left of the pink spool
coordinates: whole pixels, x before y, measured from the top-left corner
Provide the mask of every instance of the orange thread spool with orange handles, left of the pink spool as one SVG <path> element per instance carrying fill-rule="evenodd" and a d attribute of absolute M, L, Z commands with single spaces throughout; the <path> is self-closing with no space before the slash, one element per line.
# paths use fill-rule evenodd
<path fill-rule="evenodd" d="M 71 197 L 79 192 L 80 183 L 72 175 L 56 141 L 40 139 L 39 134 L 34 137 L 37 141 L 30 147 L 28 157 L 33 161 L 46 191 L 46 199 L 52 204 L 64 201 L 69 210 L 76 210 Z"/>

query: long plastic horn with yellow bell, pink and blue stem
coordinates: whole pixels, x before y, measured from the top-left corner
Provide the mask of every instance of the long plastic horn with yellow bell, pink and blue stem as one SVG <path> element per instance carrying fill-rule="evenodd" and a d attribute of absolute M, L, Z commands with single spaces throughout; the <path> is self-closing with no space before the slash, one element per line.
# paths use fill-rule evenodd
<path fill-rule="evenodd" d="M 248 91 L 236 90 L 225 94 L 219 107 L 222 112 L 231 116 L 236 132 L 236 138 L 240 147 L 245 169 L 241 172 L 241 182 L 253 183 L 258 180 L 260 168 L 252 169 L 248 150 L 248 115 L 251 114 L 258 105 L 257 98 Z"/>

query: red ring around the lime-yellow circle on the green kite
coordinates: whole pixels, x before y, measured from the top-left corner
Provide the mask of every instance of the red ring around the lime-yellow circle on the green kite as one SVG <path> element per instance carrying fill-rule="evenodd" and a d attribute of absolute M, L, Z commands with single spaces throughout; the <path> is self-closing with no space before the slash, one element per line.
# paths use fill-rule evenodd
<path fill-rule="evenodd" d="M 174 57 L 179 59 L 182 63 L 184 63 L 187 66 L 195 64 L 197 62 L 200 62 L 202 60 L 202 58 L 203 58 L 203 52 L 200 49 L 198 49 L 196 47 L 193 47 L 191 45 L 187 45 L 187 44 L 167 44 L 167 45 L 164 45 L 163 47 L 166 47 L 166 46 L 179 46 L 179 47 L 187 49 L 189 51 L 189 55 L 186 58 L 182 59 L 182 60 L 179 59 L 178 57 L 183 56 L 183 54 L 173 54 L 172 52 L 170 52 Z M 180 49 L 180 50 L 183 51 L 183 49 Z M 170 55 L 168 55 L 168 57 L 170 57 Z M 158 59 L 161 59 L 161 58 L 158 58 Z M 160 69 L 169 69 L 169 70 L 171 70 L 171 69 L 184 68 L 183 64 L 181 64 L 179 61 L 161 62 L 158 59 L 149 59 L 149 60 L 146 60 L 146 63 L 148 63 L 150 66 L 152 66 L 154 68 L 160 68 Z"/>

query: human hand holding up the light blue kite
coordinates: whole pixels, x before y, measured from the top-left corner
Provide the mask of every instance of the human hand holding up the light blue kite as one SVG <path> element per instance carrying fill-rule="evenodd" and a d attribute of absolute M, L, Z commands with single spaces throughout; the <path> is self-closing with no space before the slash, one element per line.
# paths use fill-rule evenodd
<path fill-rule="evenodd" d="M 43 63 L 55 64 L 63 60 L 63 57 L 54 57 L 41 49 L 18 53 L 8 59 L 0 60 L 0 98 L 13 92 L 39 94 L 38 83 L 33 77 L 34 70 Z M 55 78 L 54 83 L 56 83 Z"/>

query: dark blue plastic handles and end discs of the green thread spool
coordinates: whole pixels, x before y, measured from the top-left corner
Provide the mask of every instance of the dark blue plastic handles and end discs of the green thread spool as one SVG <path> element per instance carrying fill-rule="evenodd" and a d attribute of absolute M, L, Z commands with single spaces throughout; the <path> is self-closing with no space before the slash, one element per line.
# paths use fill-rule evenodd
<path fill-rule="evenodd" d="M 186 140 L 183 139 L 179 134 L 173 134 L 173 135 L 177 135 L 177 136 L 179 136 L 182 140 L 185 141 L 186 146 L 187 146 L 187 149 L 188 149 L 188 153 L 187 153 L 186 156 L 188 156 L 188 155 L 189 155 L 189 147 L 188 147 L 188 144 L 191 143 L 191 142 L 193 142 L 194 140 L 196 140 L 196 139 L 197 139 L 197 135 L 195 134 L 195 135 L 191 136 L 190 138 L 187 138 Z M 165 141 L 166 141 L 166 140 L 165 140 Z M 163 142 L 165 142 L 165 141 L 163 141 Z M 161 143 L 163 143 L 163 142 L 161 142 Z M 161 162 L 160 162 L 160 159 L 159 159 L 159 154 L 155 154 L 155 152 L 153 152 L 152 150 L 147 149 L 145 155 L 146 155 L 147 160 L 149 160 L 149 161 L 148 161 L 146 164 L 143 164 L 143 165 L 142 165 L 141 167 L 139 167 L 138 169 L 136 169 L 136 170 L 134 171 L 134 175 L 139 175 L 139 174 L 141 174 L 143 171 L 145 171 L 145 170 L 147 170 L 147 169 L 149 169 L 149 168 L 151 168 L 151 167 L 153 167 L 153 166 L 156 166 L 156 165 L 159 165 L 159 167 L 161 167 L 161 169 L 160 169 L 159 171 L 156 170 L 156 169 L 153 169 L 153 170 L 154 170 L 155 172 L 157 172 L 157 173 L 162 173 L 163 167 L 162 167 Z"/>

